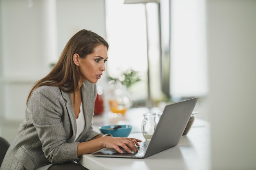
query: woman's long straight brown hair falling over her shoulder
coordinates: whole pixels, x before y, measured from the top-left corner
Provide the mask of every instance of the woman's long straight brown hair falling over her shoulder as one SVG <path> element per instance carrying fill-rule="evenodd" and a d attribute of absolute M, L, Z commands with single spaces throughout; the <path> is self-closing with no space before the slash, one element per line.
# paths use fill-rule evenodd
<path fill-rule="evenodd" d="M 40 86 L 58 86 L 62 91 L 75 94 L 79 90 L 79 71 L 73 62 L 73 55 L 77 53 L 80 57 L 85 58 L 93 53 L 94 48 L 100 44 L 108 49 L 106 40 L 92 31 L 83 29 L 73 35 L 67 42 L 52 71 L 36 82 L 36 85 L 31 89 L 27 97 L 27 103 L 31 93 Z"/>

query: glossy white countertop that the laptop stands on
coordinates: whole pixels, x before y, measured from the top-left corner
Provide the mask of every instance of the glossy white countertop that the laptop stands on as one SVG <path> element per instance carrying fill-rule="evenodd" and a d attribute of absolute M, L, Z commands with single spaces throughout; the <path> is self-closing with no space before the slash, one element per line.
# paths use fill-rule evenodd
<path fill-rule="evenodd" d="M 210 170 L 210 125 L 196 119 L 177 146 L 145 159 L 93 157 L 85 154 L 79 163 L 89 170 Z M 129 137 L 144 140 L 141 132 Z"/>

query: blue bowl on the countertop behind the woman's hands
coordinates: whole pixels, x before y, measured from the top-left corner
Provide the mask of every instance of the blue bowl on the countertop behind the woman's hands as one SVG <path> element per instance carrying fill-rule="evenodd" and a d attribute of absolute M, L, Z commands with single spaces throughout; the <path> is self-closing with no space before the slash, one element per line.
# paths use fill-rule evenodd
<path fill-rule="evenodd" d="M 132 131 L 131 125 L 121 125 L 121 128 L 118 129 L 109 129 L 114 128 L 119 125 L 109 125 L 109 126 L 101 126 L 99 127 L 99 130 L 103 134 L 110 133 L 113 137 L 128 137 L 130 135 L 130 132 Z"/>

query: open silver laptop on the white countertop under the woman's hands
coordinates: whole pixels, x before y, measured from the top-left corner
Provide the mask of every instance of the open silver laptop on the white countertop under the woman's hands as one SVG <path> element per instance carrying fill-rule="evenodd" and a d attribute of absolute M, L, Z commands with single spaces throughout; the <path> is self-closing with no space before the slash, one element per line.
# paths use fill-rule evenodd
<path fill-rule="evenodd" d="M 166 105 L 151 141 L 144 141 L 138 147 L 139 152 L 120 154 L 115 149 L 106 149 L 93 153 L 95 157 L 146 158 L 168 148 L 176 146 L 186 128 L 186 124 L 195 108 L 198 97 Z"/>

